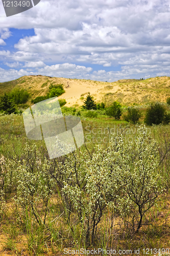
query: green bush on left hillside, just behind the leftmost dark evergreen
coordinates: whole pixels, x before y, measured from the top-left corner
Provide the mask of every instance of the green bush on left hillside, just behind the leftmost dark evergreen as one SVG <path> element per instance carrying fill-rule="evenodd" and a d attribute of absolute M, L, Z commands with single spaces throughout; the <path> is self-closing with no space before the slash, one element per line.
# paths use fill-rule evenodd
<path fill-rule="evenodd" d="M 9 98 L 15 104 L 26 103 L 29 98 L 29 93 L 24 89 L 13 89 L 9 94 Z"/>

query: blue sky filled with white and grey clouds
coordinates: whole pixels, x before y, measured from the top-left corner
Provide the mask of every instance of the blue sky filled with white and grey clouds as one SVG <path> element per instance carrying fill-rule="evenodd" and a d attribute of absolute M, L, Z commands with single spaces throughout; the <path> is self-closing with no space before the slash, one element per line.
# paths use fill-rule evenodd
<path fill-rule="evenodd" d="M 41 0 L 9 17 L 0 2 L 0 82 L 147 79 L 169 67 L 170 0 Z"/>

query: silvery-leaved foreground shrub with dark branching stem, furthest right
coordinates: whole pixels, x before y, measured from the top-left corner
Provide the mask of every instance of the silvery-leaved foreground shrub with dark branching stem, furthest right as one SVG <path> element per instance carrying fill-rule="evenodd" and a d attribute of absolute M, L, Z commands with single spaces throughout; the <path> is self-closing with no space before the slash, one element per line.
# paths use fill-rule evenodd
<path fill-rule="evenodd" d="M 119 179 L 124 190 L 119 197 L 118 211 L 127 228 L 137 233 L 144 215 L 157 203 L 163 192 L 163 179 L 158 167 L 158 144 L 143 124 L 137 129 L 137 139 L 126 145 L 123 137 L 120 137 L 118 144 L 117 161 L 113 158 L 112 167 L 114 172 L 116 166 L 119 167 Z"/>

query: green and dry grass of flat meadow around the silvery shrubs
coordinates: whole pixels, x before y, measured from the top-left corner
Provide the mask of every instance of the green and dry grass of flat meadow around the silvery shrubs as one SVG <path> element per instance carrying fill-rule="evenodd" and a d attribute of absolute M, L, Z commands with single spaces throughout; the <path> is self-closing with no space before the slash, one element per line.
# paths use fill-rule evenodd
<path fill-rule="evenodd" d="M 141 122 L 141 121 L 140 121 Z M 98 116 L 97 118 L 82 117 L 82 125 L 85 141 L 89 148 L 93 148 L 96 143 L 103 143 L 107 146 L 109 136 L 114 132 L 122 132 L 127 126 L 123 120 L 115 121 L 106 116 Z M 160 145 L 160 154 L 163 154 L 166 146 L 170 143 L 169 125 L 159 125 L 148 127 L 151 134 Z M 135 139 L 137 125 L 128 124 L 127 143 L 128 140 Z M 6 157 L 11 157 L 14 152 L 20 156 L 25 143 L 28 141 L 25 134 L 22 116 L 9 115 L 0 117 L 0 150 Z M 99 138 L 101 140 L 99 141 Z M 165 143 L 166 139 L 166 143 Z M 42 141 L 36 142 L 39 146 L 44 146 Z M 162 152 L 162 153 L 161 153 Z M 99 228 L 99 236 L 95 242 L 95 248 L 105 248 L 112 246 L 117 249 L 134 249 L 134 248 L 169 248 L 169 213 L 170 213 L 170 197 L 168 190 L 170 188 L 170 172 L 169 172 L 169 155 L 165 159 L 165 164 L 160 170 L 166 181 L 166 193 L 161 201 L 150 209 L 143 220 L 141 232 L 135 237 L 129 238 L 128 233 L 124 230 L 118 230 L 116 223 L 114 226 L 114 235 L 111 233 L 110 239 L 104 236 L 108 233 L 108 215 L 105 213 L 103 222 Z M 26 222 L 23 219 L 23 225 L 18 222 L 18 214 L 15 206 L 11 204 L 13 195 L 6 196 L 7 212 L 1 222 L 0 241 L 3 245 L 1 252 L 8 251 L 15 255 L 62 255 L 63 248 L 80 249 L 85 246 L 82 236 L 82 226 L 76 224 L 71 226 L 67 223 L 64 215 L 67 210 L 62 204 L 59 192 L 51 199 L 48 208 L 48 217 L 45 226 L 34 222 L 31 214 L 27 214 Z M 11 215 L 11 210 L 13 214 Z M 18 211 L 19 212 L 19 211 Z M 65 213 L 64 213 L 65 212 Z M 74 215 L 71 217 L 74 218 Z M 116 220 L 116 219 L 115 219 Z M 72 220 L 73 221 L 73 220 Z M 115 234 L 115 232 L 117 234 Z M 21 249 L 22 248 L 22 249 Z"/>

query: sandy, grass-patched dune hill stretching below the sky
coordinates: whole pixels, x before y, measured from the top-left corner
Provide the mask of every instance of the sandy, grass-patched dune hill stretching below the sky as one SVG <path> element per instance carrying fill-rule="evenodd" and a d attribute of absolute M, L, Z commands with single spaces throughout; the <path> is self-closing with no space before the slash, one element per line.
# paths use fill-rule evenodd
<path fill-rule="evenodd" d="M 116 82 L 102 82 L 85 79 L 48 77 L 41 75 L 22 76 L 16 80 L 0 83 L 0 95 L 14 88 L 26 89 L 31 99 L 44 96 L 50 84 L 62 83 L 65 93 L 60 98 L 66 99 L 66 106 L 80 106 L 86 94 L 90 94 L 97 102 L 106 103 L 118 100 L 124 105 L 147 104 L 152 101 L 166 102 L 170 96 L 170 77 L 154 77 L 145 80 L 123 79 Z"/>

